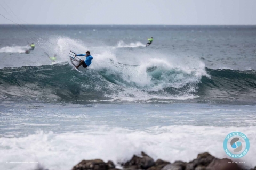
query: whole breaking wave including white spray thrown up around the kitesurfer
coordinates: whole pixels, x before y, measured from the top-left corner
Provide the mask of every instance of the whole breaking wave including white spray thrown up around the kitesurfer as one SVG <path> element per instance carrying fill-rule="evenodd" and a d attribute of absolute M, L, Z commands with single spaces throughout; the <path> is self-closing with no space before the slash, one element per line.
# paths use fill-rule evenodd
<path fill-rule="evenodd" d="M 89 69 L 81 68 L 81 74 L 73 69 L 67 62 L 69 57 L 63 54 L 70 48 L 75 52 L 85 52 L 89 49 L 86 44 L 65 37 L 51 41 L 55 41 L 58 47 L 41 46 L 51 52 L 49 54 L 58 55 L 56 64 L 42 65 L 50 64 L 50 61 L 42 56 L 43 51 L 41 54 L 38 50 L 36 57 L 26 58 L 24 63 L 23 58 L 19 60 L 18 65 L 23 66 L 10 65 L 0 69 L 0 98 L 83 103 L 173 100 L 254 102 L 256 97 L 255 70 L 214 70 L 208 69 L 196 58 L 143 50 L 136 54 L 125 51 L 124 55 L 117 56 L 115 49 L 91 47 L 94 48 L 92 65 Z M 140 45 L 138 43 L 137 46 Z M 40 61 L 37 56 L 41 56 Z M 34 65 L 28 66 L 30 64 Z"/>

